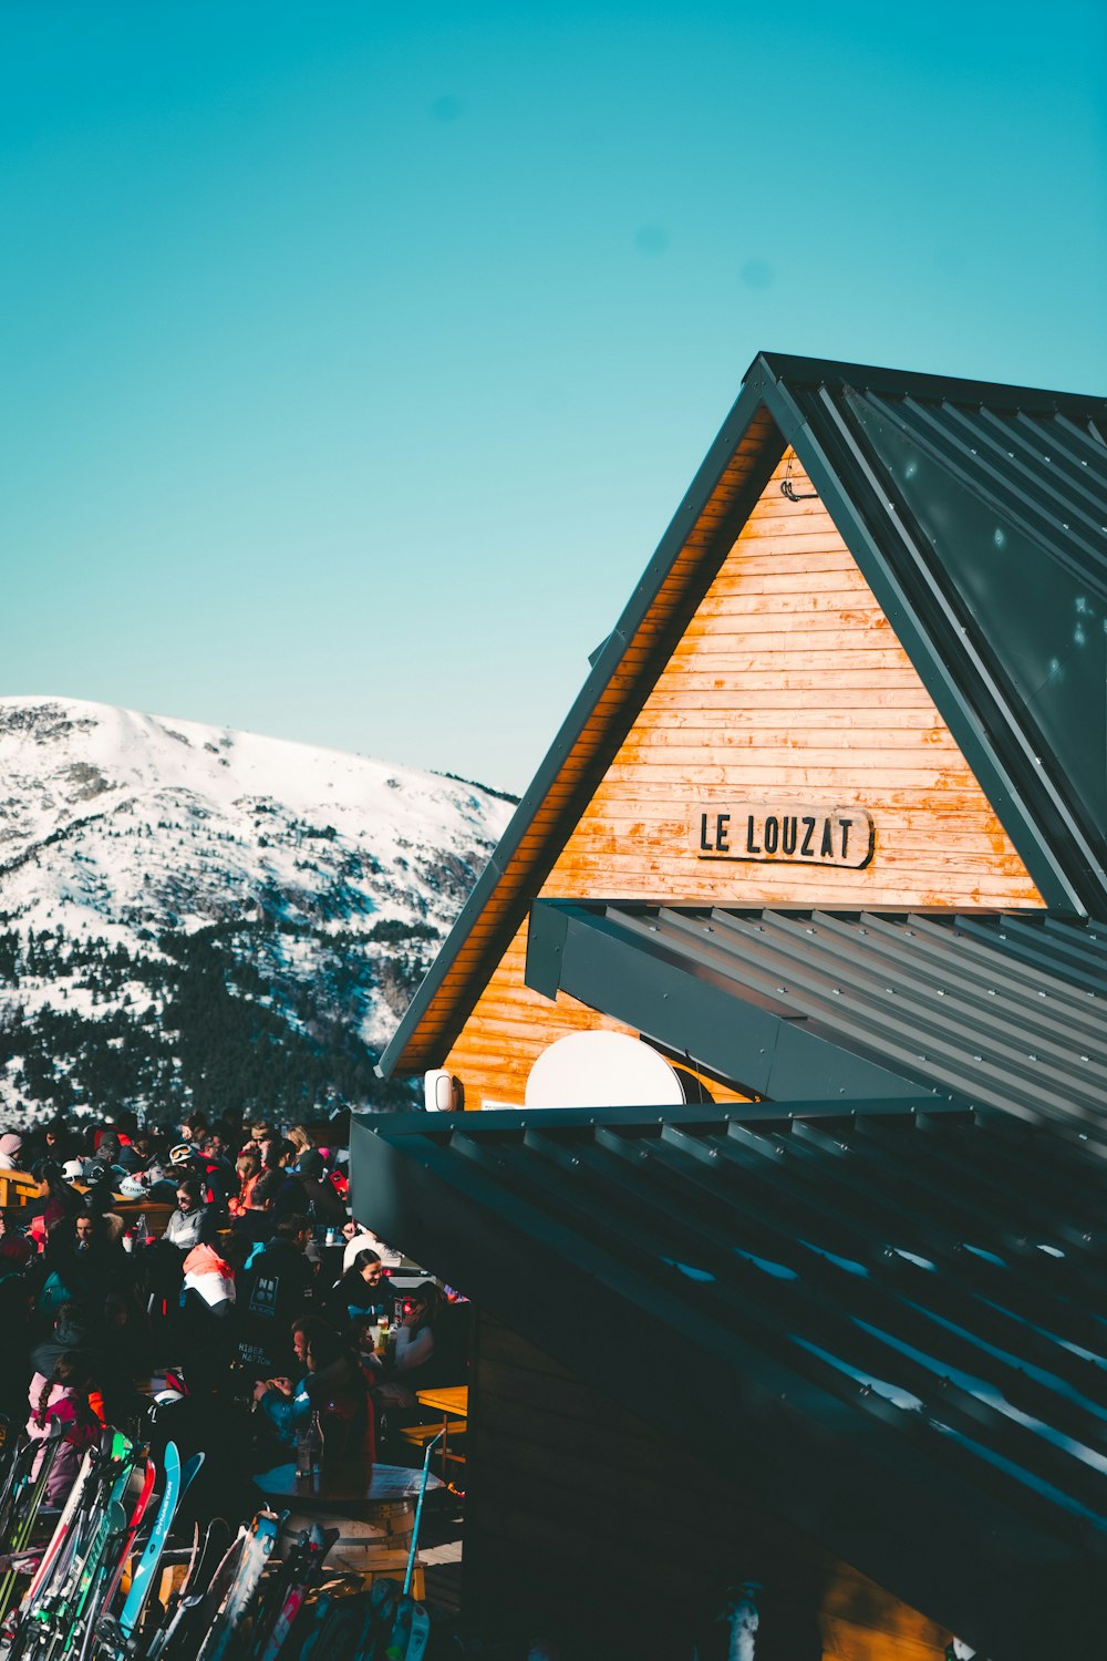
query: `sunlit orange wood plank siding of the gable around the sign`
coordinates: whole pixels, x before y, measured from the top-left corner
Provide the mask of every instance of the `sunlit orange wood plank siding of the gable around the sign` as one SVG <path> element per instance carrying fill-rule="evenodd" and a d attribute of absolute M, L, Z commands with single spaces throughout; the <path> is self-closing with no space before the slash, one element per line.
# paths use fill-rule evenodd
<path fill-rule="evenodd" d="M 734 907 L 1041 907 L 1042 899 L 820 500 L 785 452 L 541 887 Z M 699 860 L 689 821 L 734 799 L 865 807 L 863 869 Z M 553 1040 L 604 1026 L 523 983 L 526 924 L 445 1066 L 466 1106 L 521 1103 Z M 717 1100 L 737 1100 L 714 1088 Z"/>

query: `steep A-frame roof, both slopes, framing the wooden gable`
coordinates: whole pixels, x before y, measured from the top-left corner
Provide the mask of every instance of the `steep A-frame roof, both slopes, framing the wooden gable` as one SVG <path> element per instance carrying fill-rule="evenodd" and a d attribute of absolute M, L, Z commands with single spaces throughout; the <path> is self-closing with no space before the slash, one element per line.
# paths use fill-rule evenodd
<path fill-rule="evenodd" d="M 1107 400 L 760 354 L 380 1061 L 438 1065 L 792 445 L 1047 905 L 1107 909 Z"/>

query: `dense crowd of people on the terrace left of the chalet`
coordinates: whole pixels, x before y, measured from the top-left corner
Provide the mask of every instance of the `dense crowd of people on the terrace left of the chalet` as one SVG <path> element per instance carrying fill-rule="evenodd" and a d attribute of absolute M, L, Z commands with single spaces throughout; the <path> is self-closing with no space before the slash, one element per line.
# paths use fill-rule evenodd
<path fill-rule="evenodd" d="M 105 1423 L 149 1433 L 161 1410 L 163 1435 L 209 1455 L 226 1512 L 226 1485 L 305 1427 L 368 1467 L 418 1389 L 463 1382 L 466 1306 L 432 1281 L 397 1297 L 398 1257 L 352 1219 L 344 1161 L 304 1126 L 226 1118 L 0 1136 L 0 1173 L 35 1184 L 0 1213 L 0 1414 L 60 1437 L 48 1502 Z"/>

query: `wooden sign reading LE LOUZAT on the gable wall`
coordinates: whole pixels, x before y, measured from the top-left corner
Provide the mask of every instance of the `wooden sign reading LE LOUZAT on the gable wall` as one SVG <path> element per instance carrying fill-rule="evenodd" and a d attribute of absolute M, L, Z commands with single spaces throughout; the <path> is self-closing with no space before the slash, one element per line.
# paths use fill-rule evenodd
<path fill-rule="evenodd" d="M 873 821 L 863 807 L 727 802 L 695 809 L 690 840 L 699 859 L 785 860 L 858 870 L 873 857 Z"/>

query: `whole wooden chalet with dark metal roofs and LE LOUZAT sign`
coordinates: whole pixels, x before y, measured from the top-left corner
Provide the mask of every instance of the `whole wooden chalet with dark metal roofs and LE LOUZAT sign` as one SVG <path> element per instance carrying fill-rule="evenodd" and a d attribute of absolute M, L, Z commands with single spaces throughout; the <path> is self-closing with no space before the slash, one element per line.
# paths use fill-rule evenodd
<path fill-rule="evenodd" d="M 752 364 L 355 1123 L 475 1618 L 1102 1656 L 1105 620 L 1104 400 Z"/>

